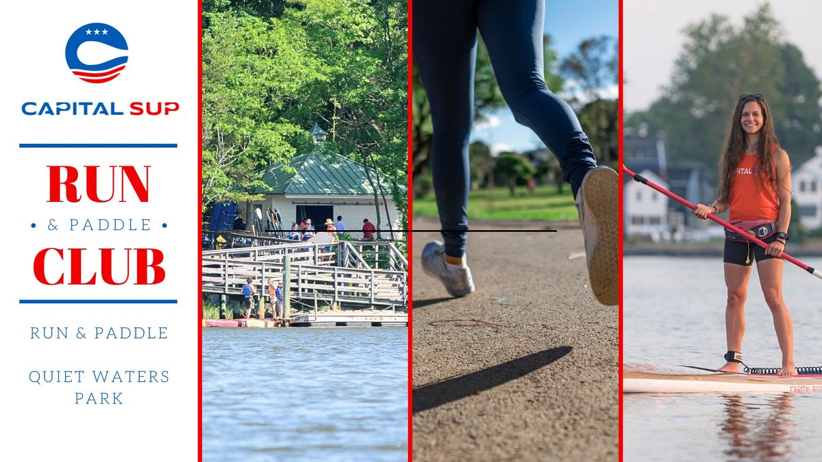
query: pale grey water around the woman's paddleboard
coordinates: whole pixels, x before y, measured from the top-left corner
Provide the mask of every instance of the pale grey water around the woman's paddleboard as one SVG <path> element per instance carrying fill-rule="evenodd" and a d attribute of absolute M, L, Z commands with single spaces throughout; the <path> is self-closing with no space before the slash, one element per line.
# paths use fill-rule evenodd
<path fill-rule="evenodd" d="M 819 268 L 820 259 L 801 259 Z M 725 346 L 722 257 L 626 257 L 626 363 L 719 367 Z M 786 263 L 797 366 L 822 365 L 822 281 Z M 781 354 L 755 268 L 746 303 L 745 362 Z M 822 395 L 624 395 L 625 460 L 820 460 Z"/>

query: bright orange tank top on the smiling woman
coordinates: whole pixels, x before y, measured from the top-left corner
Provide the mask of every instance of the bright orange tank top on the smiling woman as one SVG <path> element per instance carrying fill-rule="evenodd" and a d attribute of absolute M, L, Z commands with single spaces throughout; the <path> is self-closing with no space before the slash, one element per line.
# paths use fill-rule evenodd
<path fill-rule="evenodd" d="M 779 218 L 779 199 L 757 168 L 759 155 L 743 155 L 731 180 L 728 206 L 731 221 Z"/>

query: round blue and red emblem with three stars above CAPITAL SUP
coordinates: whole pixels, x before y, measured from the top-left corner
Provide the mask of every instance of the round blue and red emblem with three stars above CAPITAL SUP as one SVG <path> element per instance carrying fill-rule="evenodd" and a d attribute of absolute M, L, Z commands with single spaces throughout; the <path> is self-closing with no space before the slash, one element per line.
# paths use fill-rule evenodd
<path fill-rule="evenodd" d="M 120 31 L 92 22 L 74 31 L 66 44 L 66 63 L 81 81 L 112 81 L 126 68 L 128 44 Z"/>

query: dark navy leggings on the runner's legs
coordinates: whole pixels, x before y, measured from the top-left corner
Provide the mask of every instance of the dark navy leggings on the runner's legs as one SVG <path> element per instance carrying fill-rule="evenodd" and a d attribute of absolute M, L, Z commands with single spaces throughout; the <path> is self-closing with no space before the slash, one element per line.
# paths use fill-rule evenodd
<path fill-rule="evenodd" d="M 580 122 L 543 78 L 543 0 L 414 0 L 413 55 L 431 104 L 432 175 L 446 254 L 462 256 L 468 229 L 477 30 L 514 118 L 560 161 L 576 196 L 597 166 Z"/>

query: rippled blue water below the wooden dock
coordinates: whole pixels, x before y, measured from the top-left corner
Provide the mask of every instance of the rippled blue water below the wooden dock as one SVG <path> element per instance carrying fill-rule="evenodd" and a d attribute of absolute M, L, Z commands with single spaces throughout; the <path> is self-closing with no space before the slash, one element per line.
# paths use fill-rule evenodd
<path fill-rule="evenodd" d="M 402 328 L 207 328 L 204 460 L 406 460 Z"/>

